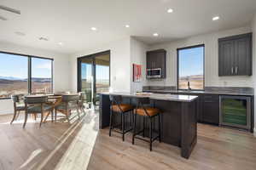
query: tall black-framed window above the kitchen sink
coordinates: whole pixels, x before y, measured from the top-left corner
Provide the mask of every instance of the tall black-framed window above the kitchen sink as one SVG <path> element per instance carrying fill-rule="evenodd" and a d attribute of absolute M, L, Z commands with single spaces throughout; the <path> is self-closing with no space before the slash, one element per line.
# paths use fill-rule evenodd
<path fill-rule="evenodd" d="M 204 45 L 177 49 L 177 88 L 204 89 Z"/>

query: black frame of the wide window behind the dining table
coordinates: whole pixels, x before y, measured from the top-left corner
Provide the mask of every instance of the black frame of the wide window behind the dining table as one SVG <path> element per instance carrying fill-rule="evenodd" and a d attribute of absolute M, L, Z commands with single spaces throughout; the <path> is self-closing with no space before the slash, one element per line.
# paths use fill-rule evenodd
<path fill-rule="evenodd" d="M 32 58 L 38 58 L 38 59 L 49 59 L 51 60 L 51 92 L 53 92 L 53 62 L 54 59 L 46 58 L 46 57 L 39 57 L 35 55 L 29 55 L 29 54 L 18 54 L 18 53 L 11 53 L 6 51 L 0 51 L 0 54 L 12 54 L 12 55 L 19 55 L 20 57 L 26 57 L 27 58 L 27 93 L 31 94 L 32 92 Z M 1 98 L 1 99 L 11 99 L 11 97 Z"/>

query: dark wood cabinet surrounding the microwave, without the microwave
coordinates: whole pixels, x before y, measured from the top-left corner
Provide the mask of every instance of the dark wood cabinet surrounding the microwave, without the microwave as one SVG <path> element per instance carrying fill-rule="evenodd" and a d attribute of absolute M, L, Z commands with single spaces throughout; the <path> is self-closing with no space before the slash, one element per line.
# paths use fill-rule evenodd
<path fill-rule="evenodd" d="M 166 78 L 166 50 L 157 49 L 147 52 L 147 69 L 161 69 L 161 77 Z"/>

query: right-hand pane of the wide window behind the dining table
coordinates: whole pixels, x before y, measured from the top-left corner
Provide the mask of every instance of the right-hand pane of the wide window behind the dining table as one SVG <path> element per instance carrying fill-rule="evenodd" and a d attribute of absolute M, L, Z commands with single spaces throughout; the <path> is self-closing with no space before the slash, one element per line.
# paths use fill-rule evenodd
<path fill-rule="evenodd" d="M 51 78 L 51 59 L 32 58 L 31 59 L 32 73 L 32 94 L 51 93 L 52 78 Z"/>

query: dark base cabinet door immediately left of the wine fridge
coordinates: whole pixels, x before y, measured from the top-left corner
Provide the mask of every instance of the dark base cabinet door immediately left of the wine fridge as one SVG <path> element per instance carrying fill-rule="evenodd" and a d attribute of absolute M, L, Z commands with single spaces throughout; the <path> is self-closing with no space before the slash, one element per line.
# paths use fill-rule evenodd
<path fill-rule="evenodd" d="M 219 123 L 219 98 L 218 95 L 204 95 L 202 101 L 202 122 Z"/>

